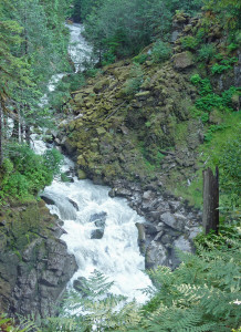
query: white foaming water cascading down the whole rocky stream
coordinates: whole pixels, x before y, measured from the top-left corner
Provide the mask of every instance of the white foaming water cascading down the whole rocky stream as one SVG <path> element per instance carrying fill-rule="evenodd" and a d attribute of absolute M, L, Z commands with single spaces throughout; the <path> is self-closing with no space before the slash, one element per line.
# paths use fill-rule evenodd
<path fill-rule="evenodd" d="M 91 48 L 81 35 L 82 25 L 67 27 L 71 30 L 69 51 L 78 71 Z M 50 91 L 54 90 L 61 77 L 63 74 L 52 77 Z M 32 138 L 35 138 L 35 152 L 42 154 L 46 149 L 44 143 L 36 137 Z M 74 168 L 73 162 L 66 157 L 64 160 L 62 172 Z M 135 224 L 145 220 L 129 208 L 125 199 L 111 198 L 108 190 L 108 187 L 74 177 L 73 183 L 54 179 L 43 195 L 54 201 L 54 205 L 49 205 L 50 211 L 64 221 L 66 234 L 62 239 L 70 253 L 76 258 L 78 270 L 70 287 L 73 280 L 78 277 L 87 278 L 97 269 L 114 281 L 111 289 L 113 293 L 125 295 L 129 300 L 135 298 L 142 303 L 147 299 L 142 290 L 150 286 L 151 281 L 142 271 L 145 262 L 139 253 Z"/>

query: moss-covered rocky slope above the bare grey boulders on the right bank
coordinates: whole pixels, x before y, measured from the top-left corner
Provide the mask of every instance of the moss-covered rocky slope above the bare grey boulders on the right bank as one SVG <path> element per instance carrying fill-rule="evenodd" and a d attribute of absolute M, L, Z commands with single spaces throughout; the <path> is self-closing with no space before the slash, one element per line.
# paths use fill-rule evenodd
<path fill-rule="evenodd" d="M 207 166 L 202 152 L 207 132 L 220 125 L 226 131 L 235 114 L 223 113 L 216 104 L 208 113 L 198 110 L 199 90 L 190 79 L 208 76 L 217 95 L 239 86 L 239 52 L 229 46 L 222 27 L 184 13 L 175 17 L 170 39 L 168 61 L 151 58 L 150 45 L 133 60 L 104 68 L 72 93 L 61 144 L 76 156 L 81 178 L 86 174 L 112 186 L 116 179 L 143 184 L 158 179 L 160 187 L 174 193 L 177 186 L 188 188 L 197 170 Z M 206 44 L 216 58 L 203 51 Z M 220 59 L 228 63 L 224 68 Z M 229 108 L 237 110 L 239 96 L 233 93 L 230 101 Z"/>

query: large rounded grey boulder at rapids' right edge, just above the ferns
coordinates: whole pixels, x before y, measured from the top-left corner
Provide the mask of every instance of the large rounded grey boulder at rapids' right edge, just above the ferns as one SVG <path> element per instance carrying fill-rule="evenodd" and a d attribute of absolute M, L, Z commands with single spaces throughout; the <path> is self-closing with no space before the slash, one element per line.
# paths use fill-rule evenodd
<path fill-rule="evenodd" d="M 158 266 L 164 266 L 167 262 L 166 248 L 156 241 L 151 241 L 146 250 L 145 268 L 156 269 Z"/>

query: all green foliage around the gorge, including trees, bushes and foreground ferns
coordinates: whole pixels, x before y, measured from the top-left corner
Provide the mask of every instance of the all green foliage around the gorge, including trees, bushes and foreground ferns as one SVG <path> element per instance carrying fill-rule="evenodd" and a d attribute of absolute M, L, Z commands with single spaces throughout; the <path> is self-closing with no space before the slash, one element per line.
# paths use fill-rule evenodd
<path fill-rule="evenodd" d="M 154 62 L 158 62 L 160 56 L 168 59 L 166 41 L 176 10 L 197 13 L 205 6 L 208 20 L 222 22 L 231 35 L 235 35 L 235 41 L 240 40 L 241 4 L 238 0 L 74 0 L 73 4 L 73 17 L 84 21 L 86 35 L 104 64 L 137 55 L 153 42 Z M 39 101 L 46 92 L 51 75 L 69 68 L 64 20 L 70 14 L 65 0 L 0 2 L 0 199 L 4 200 L 8 196 L 19 199 L 33 197 L 59 172 L 60 155 L 52 151 L 36 156 L 28 146 L 29 142 L 24 142 L 28 139 L 23 139 L 21 128 L 25 127 L 28 132 L 28 127 L 43 125 L 51 117 L 49 110 L 40 107 Z M 184 45 L 193 48 L 191 42 L 193 40 L 184 40 Z M 200 46 L 198 53 L 203 62 L 217 55 L 211 45 Z M 137 59 L 134 65 L 136 81 L 129 82 L 132 92 L 142 82 L 139 64 L 143 60 Z M 233 65 L 231 60 L 216 60 L 213 75 Z M 227 106 L 230 94 L 214 94 L 210 81 L 200 75 L 192 77 L 192 83 L 199 89 L 196 112 L 205 124 L 213 104 L 221 108 Z M 11 137 L 8 117 L 18 127 L 18 133 Z M 210 135 L 216 129 L 209 127 L 206 142 L 211 141 Z M 222 208 L 227 209 L 237 207 L 240 196 L 239 149 L 239 141 L 233 137 L 222 144 L 218 156 L 212 156 L 213 163 L 217 158 L 220 163 L 221 188 L 229 198 Z M 42 322 L 41 331 L 91 331 L 93 326 L 96 331 L 238 331 L 240 225 L 233 216 L 231 219 L 227 217 L 226 221 L 218 236 L 211 234 L 197 239 L 197 255 L 179 253 L 182 263 L 178 269 L 171 271 L 160 267 L 150 272 L 155 288 L 146 290 L 151 299 L 144 307 L 127 303 L 113 294 L 99 298 L 103 291 L 108 291 L 111 283 L 96 271 L 84 284 L 85 297 L 83 292 L 72 293 L 65 303 L 69 309 L 82 305 L 87 314 L 51 318 Z M 117 305 L 120 310 L 115 310 Z M 11 323 L 11 320 L 0 317 L 0 328 L 21 331 Z M 31 323 L 22 331 L 28 329 L 40 330 Z"/>

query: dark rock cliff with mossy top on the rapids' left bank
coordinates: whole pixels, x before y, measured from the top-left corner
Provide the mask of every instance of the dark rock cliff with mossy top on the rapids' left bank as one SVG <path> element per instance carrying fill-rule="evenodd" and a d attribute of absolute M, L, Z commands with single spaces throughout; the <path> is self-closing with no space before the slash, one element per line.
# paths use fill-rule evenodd
<path fill-rule="evenodd" d="M 54 315 L 76 262 L 43 201 L 0 211 L 0 311 Z"/>

